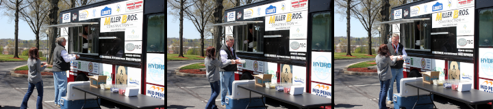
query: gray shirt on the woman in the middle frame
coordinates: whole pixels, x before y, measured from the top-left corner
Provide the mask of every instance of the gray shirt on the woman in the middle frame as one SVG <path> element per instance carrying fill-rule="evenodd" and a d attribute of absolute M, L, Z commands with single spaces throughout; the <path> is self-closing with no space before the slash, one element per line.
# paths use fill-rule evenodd
<path fill-rule="evenodd" d="M 219 80 L 219 69 L 226 67 L 231 63 L 231 60 L 226 59 L 226 63 L 219 61 L 218 59 L 209 59 L 205 57 L 205 69 L 207 69 L 205 76 L 207 76 L 207 80 L 209 82 L 216 82 Z"/>

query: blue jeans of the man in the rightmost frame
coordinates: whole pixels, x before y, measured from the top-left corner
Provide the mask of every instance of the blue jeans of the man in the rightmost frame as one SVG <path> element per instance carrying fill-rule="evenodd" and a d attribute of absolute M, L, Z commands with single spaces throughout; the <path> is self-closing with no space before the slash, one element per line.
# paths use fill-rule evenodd
<path fill-rule="evenodd" d="M 390 79 L 389 91 L 388 91 L 388 96 L 387 96 L 387 99 L 389 101 L 394 100 L 392 98 L 392 96 L 394 96 L 394 80 L 396 80 L 396 82 L 397 82 L 397 84 L 396 84 L 397 93 L 401 93 L 401 79 L 404 78 L 403 77 L 403 69 L 404 68 L 401 68 L 401 69 L 390 68 L 390 70 L 392 71 L 392 79 Z"/>

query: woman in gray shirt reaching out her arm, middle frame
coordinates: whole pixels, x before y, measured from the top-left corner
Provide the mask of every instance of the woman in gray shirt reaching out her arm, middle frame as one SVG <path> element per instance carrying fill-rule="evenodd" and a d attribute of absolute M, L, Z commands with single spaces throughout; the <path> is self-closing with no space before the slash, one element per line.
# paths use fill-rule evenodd
<path fill-rule="evenodd" d="M 237 63 L 239 60 L 227 60 L 226 63 L 222 63 L 218 59 L 216 59 L 216 48 L 213 48 L 212 46 L 209 46 L 207 48 L 207 57 L 205 57 L 205 69 L 207 69 L 207 73 L 205 74 L 207 76 L 207 80 L 209 80 L 212 93 L 211 97 L 209 99 L 209 102 L 207 102 L 207 106 L 205 106 L 206 109 L 217 109 L 216 106 L 216 98 L 218 97 L 220 91 L 220 86 L 219 86 L 219 68 L 226 67 L 229 64 L 234 64 Z"/>

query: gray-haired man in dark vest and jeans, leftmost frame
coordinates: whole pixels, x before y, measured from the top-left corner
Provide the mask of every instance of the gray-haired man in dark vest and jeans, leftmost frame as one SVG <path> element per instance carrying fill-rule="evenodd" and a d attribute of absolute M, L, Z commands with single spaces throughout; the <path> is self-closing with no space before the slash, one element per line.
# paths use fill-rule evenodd
<path fill-rule="evenodd" d="M 60 107 L 60 98 L 66 95 L 66 71 L 70 69 L 70 62 L 79 59 L 77 55 L 68 55 L 65 50 L 65 37 L 56 38 L 56 47 L 53 50 L 53 82 L 55 83 L 55 105 Z"/>

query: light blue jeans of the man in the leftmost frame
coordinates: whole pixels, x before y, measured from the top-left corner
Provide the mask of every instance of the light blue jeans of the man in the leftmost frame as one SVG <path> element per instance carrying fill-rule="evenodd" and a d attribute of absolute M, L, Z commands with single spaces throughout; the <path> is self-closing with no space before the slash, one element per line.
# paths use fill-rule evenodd
<path fill-rule="evenodd" d="M 53 82 L 55 82 L 55 104 L 60 105 L 60 99 L 66 95 L 66 72 L 53 72 Z"/>

